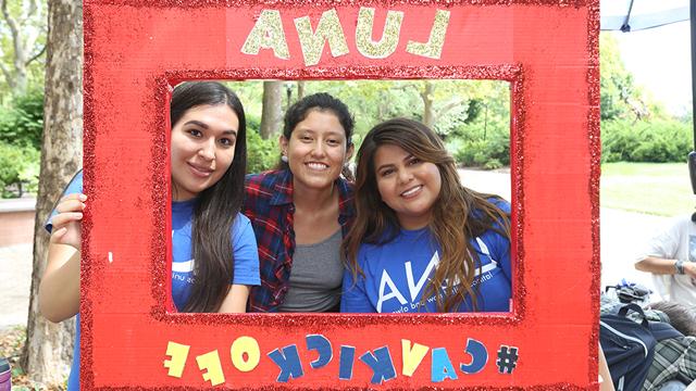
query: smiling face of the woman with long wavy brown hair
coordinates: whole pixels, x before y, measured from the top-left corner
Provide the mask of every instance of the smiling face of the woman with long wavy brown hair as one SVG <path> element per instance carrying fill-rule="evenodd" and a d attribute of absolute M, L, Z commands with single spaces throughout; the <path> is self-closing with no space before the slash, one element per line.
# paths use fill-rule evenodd
<path fill-rule="evenodd" d="M 425 227 L 442 188 L 437 166 L 421 161 L 401 147 L 384 144 L 374 154 L 374 167 L 382 201 L 396 213 L 401 227 Z"/>

